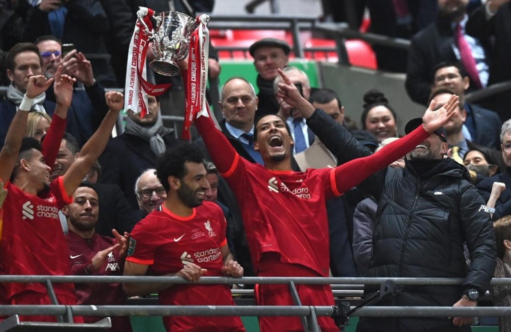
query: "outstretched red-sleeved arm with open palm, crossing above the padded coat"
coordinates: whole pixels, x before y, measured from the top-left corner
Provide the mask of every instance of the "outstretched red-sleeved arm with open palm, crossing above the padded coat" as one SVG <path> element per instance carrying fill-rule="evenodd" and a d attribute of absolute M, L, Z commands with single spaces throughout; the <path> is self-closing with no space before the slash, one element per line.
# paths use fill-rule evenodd
<path fill-rule="evenodd" d="M 432 101 L 424 113 L 422 126 L 417 127 L 405 137 L 386 145 L 373 155 L 354 159 L 336 167 L 333 186 L 337 189 L 337 194 L 342 194 L 353 188 L 371 174 L 383 169 L 421 144 L 431 133 L 449 121 L 456 111 L 458 100 L 457 96 L 451 96 L 449 101 L 437 111 L 433 111 L 435 102 Z M 334 190 L 334 192 L 336 191 Z"/>

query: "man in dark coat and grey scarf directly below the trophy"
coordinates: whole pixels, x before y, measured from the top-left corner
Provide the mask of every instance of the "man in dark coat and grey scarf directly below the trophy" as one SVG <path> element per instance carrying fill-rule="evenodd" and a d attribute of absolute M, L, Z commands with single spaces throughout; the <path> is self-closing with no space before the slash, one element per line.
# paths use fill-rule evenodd
<path fill-rule="evenodd" d="M 173 129 L 165 128 L 158 97 L 148 96 L 147 114 L 128 113 L 125 131 L 112 138 L 101 155 L 103 175 L 100 183 L 121 187 L 128 204 L 138 209 L 133 192 L 136 178 L 156 166 L 157 159 L 177 143 Z"/>

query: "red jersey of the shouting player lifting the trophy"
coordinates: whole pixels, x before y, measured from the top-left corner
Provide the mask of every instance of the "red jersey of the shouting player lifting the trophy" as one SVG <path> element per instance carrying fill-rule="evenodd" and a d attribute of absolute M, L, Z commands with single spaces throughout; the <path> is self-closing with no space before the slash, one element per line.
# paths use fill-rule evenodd
<path fill-rule="evenodd" d="M 269 171 L 237 158 L 225 174 L 243 212 L 255 271 L 264 252 L 277 252 L 283 263 L 306 266 L 328 277 L 330 264 L 325 201 L 334 169 Z M 264 199 L 263 199 L 264 198 Z"/>

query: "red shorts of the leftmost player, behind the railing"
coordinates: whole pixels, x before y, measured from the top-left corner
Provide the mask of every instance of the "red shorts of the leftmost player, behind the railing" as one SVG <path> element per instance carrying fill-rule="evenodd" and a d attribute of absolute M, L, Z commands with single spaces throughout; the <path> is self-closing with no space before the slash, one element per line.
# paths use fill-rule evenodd
<path fill-rule="evenodd" d="M 59 304 L 76 305 L 76 299 L 73 296 L 57 295 Z M 48 294 L 25 292 L 14 295 L 9 304 L 52 304 Z M 57 322 L 56 316 L 19 316 L 19 320 L 26 322 Z M 83 323 L 82 316 L 73 316 L 75 323 Z"/>

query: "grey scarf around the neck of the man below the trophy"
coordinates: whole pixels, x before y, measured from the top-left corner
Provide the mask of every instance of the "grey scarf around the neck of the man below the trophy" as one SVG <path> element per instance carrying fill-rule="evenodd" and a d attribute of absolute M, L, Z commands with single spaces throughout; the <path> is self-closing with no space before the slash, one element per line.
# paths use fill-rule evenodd
<path fill-rule="evenodd" d="M 158 114 L 156 122 L 149 126 L 141 126 L 131 120 L 128 116 L 126 118 L 126 127 L 124 130 L 129 134 L 142 137 L 147 140 L 151 146 L 151 151 L 156 155 L 156 157 L 161 156 L 166 151 L 165 141 L 162 137 L 173 131 L 173 129 L 165 128 L 163 126 L 160 114 Z"/>

